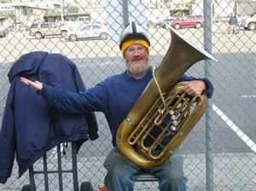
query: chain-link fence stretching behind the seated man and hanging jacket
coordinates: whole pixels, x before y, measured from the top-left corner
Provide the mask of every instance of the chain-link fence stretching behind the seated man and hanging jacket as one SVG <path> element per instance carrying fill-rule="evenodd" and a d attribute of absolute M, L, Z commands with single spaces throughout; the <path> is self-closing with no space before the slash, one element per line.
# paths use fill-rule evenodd
<path fill-rule="evenodd" d="M 20 55 L 36 50 L 66 55 L 90 88 L 125 69 L 118 46 L 125 24 L 137 20 L 147 27 L 152 65 L 160 64 L 166 54 L 171 42 L 168 26 L 172 26 L 184 39 L 207 49 L 218 60 L 200 61 L 188 71 L 195 77 L 209 78 L 215 87 L 205 119 L 181 146 L 188 190 L 256 190 L 255 1 L 61 0 L 0 4 L 1 119 L 10 85 L 7 74 Z M 231 14 L 236 16 L 237 24 L 236 20 L 230 23 Z M 84 142 L 77 161 L 79 182 L 90 181 L 95 188 L 103 185 L 106 171 L 102 164 L 112 149 L 106 119 L 102 113 L 96 113 L 96 118 L 100 137 Z M 63 169 L 71 166 L 70 150 L 67 147 L 67 154 L 61 157 Z M 54 170 L 55 149 L 47 158 L 48 168 Z M 40 169 L 42 159 L 34 167 Z M 29 183 L 28 172 L 20 179 L 17 175 L 15 163 L 12 176 L 0 189 L 20 190 Z M 62 175 L 64 190 L 73 190 L 71 176 Z M 49 175 L 49 190 L 59 190 L 58 179 L 55 174 Z M 35 176 L 35 182 L 37 190 L 43 191 L 44 176 Z M 156 190 L 157 183 L 137 182 L 135 187 Z"/>

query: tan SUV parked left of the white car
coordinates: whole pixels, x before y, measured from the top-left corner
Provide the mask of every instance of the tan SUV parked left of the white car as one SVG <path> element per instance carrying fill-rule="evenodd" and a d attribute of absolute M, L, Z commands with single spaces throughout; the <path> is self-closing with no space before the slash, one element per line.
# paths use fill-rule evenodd
<path fill-rule="evenodd" d="M 67 36 L 67 29 L 61 25 L 51 22 L 35 23 L 29 27 L 29 35 L 35 38 L 44 38 L 46 36 Z"/>

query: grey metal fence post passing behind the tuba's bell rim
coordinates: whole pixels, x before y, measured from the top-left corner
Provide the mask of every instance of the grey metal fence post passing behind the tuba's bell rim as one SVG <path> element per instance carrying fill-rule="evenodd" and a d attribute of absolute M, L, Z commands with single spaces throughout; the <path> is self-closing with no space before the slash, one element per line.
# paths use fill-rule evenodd
<path fill-rule="evenodd" d="M 212 0 L 204 0 L 204 49 L 212 53 Z M 205 61 L 206 78 L 211 77 L 211 61 Z M 209 100 L 209 106 L 212 106 L 212 101 Z M 211 109 L 206 112 L 206 190 L 213 190 L 213 156 L 212 156 L 212 124 L 211 124 Z"/>

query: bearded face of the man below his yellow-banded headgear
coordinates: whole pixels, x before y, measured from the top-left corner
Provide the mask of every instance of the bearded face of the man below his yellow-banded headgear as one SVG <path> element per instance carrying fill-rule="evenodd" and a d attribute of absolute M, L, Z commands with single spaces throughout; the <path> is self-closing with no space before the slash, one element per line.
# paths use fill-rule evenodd
<path fill-rule="evenodd" d="M 148 70 L 148 51 L 143 45 L 132 44 L 126 49 L 124 58 L 131 74 L 139 75 Z"/>

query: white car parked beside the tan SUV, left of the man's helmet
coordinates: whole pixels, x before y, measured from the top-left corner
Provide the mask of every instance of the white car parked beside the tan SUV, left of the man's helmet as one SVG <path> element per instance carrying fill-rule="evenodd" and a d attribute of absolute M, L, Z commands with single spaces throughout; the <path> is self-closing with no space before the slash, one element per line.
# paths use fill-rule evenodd
<path fill-rule="evenodd" d="M 90 23 L 81 26 L 79 29 L 67 32 L 67 39 L 70 41 L 77 41 L 83 38 L 101 38 L 102 40 L 108 39 L 107 27 L 100 24 Z"/>

